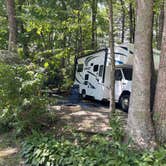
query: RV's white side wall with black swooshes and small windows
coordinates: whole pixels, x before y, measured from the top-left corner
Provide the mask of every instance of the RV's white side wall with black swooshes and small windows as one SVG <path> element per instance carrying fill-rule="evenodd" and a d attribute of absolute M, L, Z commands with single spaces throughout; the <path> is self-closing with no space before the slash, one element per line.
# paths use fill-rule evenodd
<path fill-rule="evenodd" d="M 79 84 L 79 93 L 102 100 L 106 71 L 107 49 L 77 59 L 75 84 Z"/>

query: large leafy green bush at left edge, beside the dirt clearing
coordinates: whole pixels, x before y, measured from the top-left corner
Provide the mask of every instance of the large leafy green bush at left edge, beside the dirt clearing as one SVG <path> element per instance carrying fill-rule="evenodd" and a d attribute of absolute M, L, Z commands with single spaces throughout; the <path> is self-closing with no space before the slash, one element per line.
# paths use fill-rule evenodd
<path fill-rule="evenodd" d="M 34 64 L 0 64 L 1 126 L 15 127 L 17 132 L 39 128 L 37 119 L 47 102 L 40 93 L 42 84 L 42 70 Z"/>

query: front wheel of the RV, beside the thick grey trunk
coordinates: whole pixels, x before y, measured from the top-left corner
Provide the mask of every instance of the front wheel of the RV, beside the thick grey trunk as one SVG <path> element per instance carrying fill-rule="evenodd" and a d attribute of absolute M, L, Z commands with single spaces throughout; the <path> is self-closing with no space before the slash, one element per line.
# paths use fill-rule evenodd
<path fill-rule="evenodd" d="M 130 95 L 123 95 L 120 98 L 120 106 L 123 111 L 128 112 L 130 102 Z"/>

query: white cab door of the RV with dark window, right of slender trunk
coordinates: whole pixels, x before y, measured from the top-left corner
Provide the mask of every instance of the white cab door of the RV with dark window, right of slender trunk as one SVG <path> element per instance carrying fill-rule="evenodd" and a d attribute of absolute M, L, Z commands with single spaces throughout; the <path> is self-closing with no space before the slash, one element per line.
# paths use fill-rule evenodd
<path fill-rule="evenodd" d="M 119 101 L 119 97 L 122 93 L 122 72 L 120 69 L 115 69 L 115 102 Z"/>

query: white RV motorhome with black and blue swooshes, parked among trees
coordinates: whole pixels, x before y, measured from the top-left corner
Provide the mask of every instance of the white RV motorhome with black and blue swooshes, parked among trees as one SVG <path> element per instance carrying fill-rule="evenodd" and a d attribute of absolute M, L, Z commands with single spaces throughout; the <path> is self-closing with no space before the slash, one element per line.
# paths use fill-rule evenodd
<path fill-rule="evenodd" d="M 128 110 L 132 87 L 133 44 L 115 46 L 115 102 Z M 76 62 L 74 85 L 83 98 L 108 100 L 110 91 L 110 51 L 102 49 L 80 57 Z"/>

